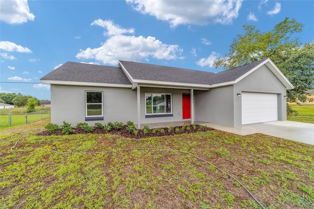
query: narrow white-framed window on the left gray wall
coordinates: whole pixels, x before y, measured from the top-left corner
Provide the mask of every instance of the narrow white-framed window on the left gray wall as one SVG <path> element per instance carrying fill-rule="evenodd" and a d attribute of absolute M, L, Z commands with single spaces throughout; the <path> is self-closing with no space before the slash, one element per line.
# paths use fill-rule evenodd
<path fill-rule="evenodd" d="M 103 116 L 103 92 L 86 91 L 86 117 Z"/>

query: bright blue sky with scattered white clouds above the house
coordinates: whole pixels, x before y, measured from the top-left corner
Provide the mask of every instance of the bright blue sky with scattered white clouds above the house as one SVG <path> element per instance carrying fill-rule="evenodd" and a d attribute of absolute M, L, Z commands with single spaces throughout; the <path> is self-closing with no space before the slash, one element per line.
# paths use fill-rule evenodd
<path fill-rule="evenodd" d="M 0 92 L 50 100 L 39 79 L 67 61 L 220 72 L 244 24 L 265 32 L 286 17 L 314 40 L 312 0 L 0 0 Z"/>

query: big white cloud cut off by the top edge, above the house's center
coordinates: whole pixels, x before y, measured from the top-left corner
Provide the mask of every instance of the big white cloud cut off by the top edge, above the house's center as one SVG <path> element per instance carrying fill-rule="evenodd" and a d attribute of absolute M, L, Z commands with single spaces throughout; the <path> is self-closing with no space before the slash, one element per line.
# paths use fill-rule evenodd
<path fill-rule="evenodd" d="M 167 21 L 171 27 L 209 22 L 231 24 L 243 0 L 127 0 L 138 12 Z"/>

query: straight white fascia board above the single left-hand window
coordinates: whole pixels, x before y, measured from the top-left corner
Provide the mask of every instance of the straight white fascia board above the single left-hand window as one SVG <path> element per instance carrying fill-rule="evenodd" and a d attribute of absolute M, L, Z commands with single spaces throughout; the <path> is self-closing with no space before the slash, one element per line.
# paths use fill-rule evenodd
<path fill-rule="evenodd" d="M 41 83 L 50 83 L 52 85 L 132 88 L 131 84 L 116 84 L 116 83 L 94 83 L 94 82 L 64 81 L 64 80 L 40 80 L 40 82 Z"/>

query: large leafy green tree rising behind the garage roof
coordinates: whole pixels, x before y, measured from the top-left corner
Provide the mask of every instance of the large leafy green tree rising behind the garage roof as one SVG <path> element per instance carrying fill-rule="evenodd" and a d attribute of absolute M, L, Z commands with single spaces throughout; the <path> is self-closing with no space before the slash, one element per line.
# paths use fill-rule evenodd
<path fill-rule="evenodd" d="M 216 60 L 214 66 L 231 69 L 270 58 L 294 86 L 288 90 L 288 99 L 304 100 L 305 91 L 314 87 L 314 44 L 302 46 L 298 37 L 290 37 L 302 32 L 303 25 L 286 18 L 267 32 L 251 25 L 243 28 L 245 34 L 236 36 L 229 53 Z"/>

